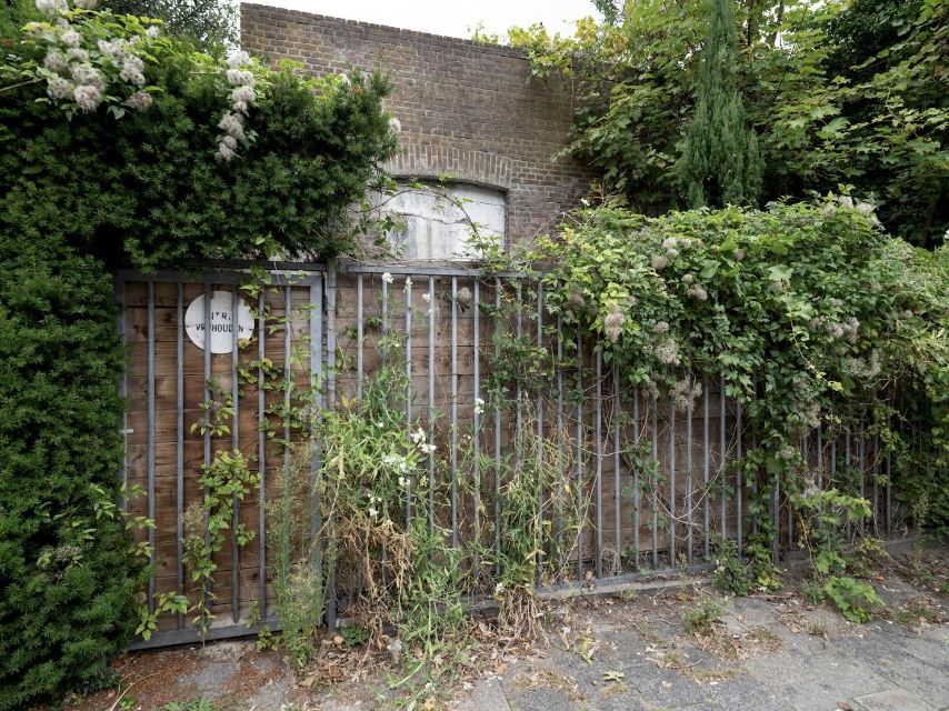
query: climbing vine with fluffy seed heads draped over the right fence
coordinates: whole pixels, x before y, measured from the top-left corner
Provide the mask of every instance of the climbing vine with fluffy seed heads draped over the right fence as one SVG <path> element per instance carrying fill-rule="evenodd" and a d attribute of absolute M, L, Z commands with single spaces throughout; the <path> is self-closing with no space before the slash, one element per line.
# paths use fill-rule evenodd
<path fill-rule="evenodd" d="M 707 375 L 745 404 L 752 553 L 770 558 L 775 474 L 781 491 L 809 483 L 796 452 L 819 424 L 879 435 L 907 501 L 949 525 L 949 248 L 887 236 L 849 196 L 661 218 L 608 202 L 507 268 L 538 270 L 565 341 L 601 343 L 626 387 L 691 412 Z"/>

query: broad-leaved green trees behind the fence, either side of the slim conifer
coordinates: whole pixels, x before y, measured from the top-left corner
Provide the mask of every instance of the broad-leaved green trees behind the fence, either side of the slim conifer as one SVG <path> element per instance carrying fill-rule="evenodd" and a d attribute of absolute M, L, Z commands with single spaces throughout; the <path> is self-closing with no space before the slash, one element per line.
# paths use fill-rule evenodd
<path fill-rule="evenodd" d="M 676 178 L 689 162 L 688 127 L 701 114 L 715 3 L 681 0 L 675 11 L 663 0 L 601 4 L 611 6 L 606 21 L 582 20 L 573 37 L 536 24 L 512 29 L 509 40 L 528 53 L 533 76 L 571 76 L 575 134 L 565 152 L 596 168 L 635 210 L 662 214 L 687 203 L 689 186 Z M 872 198 L 888 231 L 941 244 L 949 227 L 949 6 L 731 6 L 737 90 L 761 149 L 762 197 L 801 200 L 852 184 Z M 722 162 L 720 177 L 729 172 L 735 167 Z"/>

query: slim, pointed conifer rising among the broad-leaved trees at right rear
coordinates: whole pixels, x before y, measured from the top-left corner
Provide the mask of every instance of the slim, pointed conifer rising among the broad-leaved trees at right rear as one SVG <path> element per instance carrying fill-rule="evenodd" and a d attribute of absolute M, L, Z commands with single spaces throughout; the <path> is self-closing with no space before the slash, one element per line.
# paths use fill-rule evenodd
<path fill-rule="evenodd" d="M 679 184 L 690 208 L 757 204 L 763 161 L 758 137 L 746 126 L 738 88 L 735 0 L 710 0 L 696 110 L 679 161 Z"/>

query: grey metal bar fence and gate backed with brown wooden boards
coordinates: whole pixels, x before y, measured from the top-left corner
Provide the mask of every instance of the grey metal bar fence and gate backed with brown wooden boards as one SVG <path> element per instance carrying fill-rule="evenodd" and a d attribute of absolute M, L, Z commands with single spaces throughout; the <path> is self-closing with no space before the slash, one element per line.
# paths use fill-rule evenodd
<path fill-rule="evenodd" d="M 272 288 L 253 307 L 259 312 L 268 307 L 283 321 L 273 328 L 261 317 L 248 339 L 238 328 L 244 299 L 239 288 L 249 280 L 248 264 L 116 276 L 122 304 L 119 328 L 129 358 L 122 375 L 129 410 L 121 477 L 144 491 L 141 498 L 130 498 L 129 509 L 156 521 L 144 534 L 156 565 L 148 587 L 150 604 L 157 592 L 189 587 L 182 539 L 188 509 L 202 495 L 200 468 L 219 449 L 239 449 L 254 457 L 260 472 L 259 495 L 237 502 L 232 521 L 232 531 L 243 523 L 256 537 L 243 548 L 232 541 L 216 560 L 217 618 L 206 639 L 278 623 L 266 510 L 269 482 L 290 462 L 264 430 L 270 427 L 268 407 L 289 394 L 262 387 L 263 365 L 257 383 L 242 381 L 242 353 L 259 362 L 282 362 L 286 377 L 301 384 L 311 372 L 321 383 L 318 405 L 332 408 L 340 397 L 363 394 L 381 351 L 402 348 L 407 422 L 423 422 L 429 441 L 438 441 L 439 452 L 447 452 L 429 457 L 429 481 L 440 472 L 451 478 L 450 499 L 442 507 L 430 498 L 424 514 L 430 524 L 438 521 L 450 529 L 454 545 L 477 537 L 500 551 L 501 464 L 516 449 L 522 428 L 536 428 L 538 439 L 569 448 L 570 469 L 565 467 L 562 475 L 575 484 L 581 525 L 570 565 L 539 584 L 582 585 L 590 584 L 590 575 L 596 582 L 701 563 L 715 535 L 732 539 L 742 549 L 749 533 L 750 485 L 741 481 L 733 462 L 756 445 L 757 433 L 747 425 L 741 404 L 726 397 L 723 383 L 699 375 L 701 395 L 687 409 L 630 387 L 628 374 L 605 362 L 596 343 L 565 339 L 559 319 L 546 308 L 542 288 L 520 274 L 485 278 L 463 268 L 397 264 L 263 267 Z M 211 306 L 216 291 L 230 297 L 231 329 L 224 324 L 223 332 L 231 343 L 229 352 L 220 354 L 208 347 L 214 320 L 222 317 Z M 203 350 L 191 342 L 186 328 L 188 307 L 199 297 L 202 318 L 191 326 L 203 331 Z M 517 380 L 508 397 L 498 397 L 490 363 L 506 357 L 505 339 L 523 351 L 546 353 L 553 372 Z M 523 351 L 515 348 L 511 359 Z M 386 356 L 391 360 L 392 353 Z M 211 399 L 212 388 L 229 391 L 232 401 L 229 432 L 221 437 L 190 428 L 204 415 L 201 403 Z M 459 487 L 462 432 L 470 433 L 476 455 L 477 483 L 467 488 Z M 283 435 L 291 439 L 289 428 Z M 851 533 L 892 531 L 892 472 L 875 438 L 862 429 L 831 433 L 817 428 L 800 448 L 812 485 L 843 487 L 871 501 L 870 520 Z M 482 461 L 493 465 L 482 471 Z M 314 472 L 319 465 L 314 458 Z M 407 517 L 419 514 L 406 511 Z M 797 547 L 793 507 L 779 482 L 769 515 L 779 532 L 772 543 L 777 558 Z M 312 517 L 317 531 L 318 508 Z M 563 534 L 556 521 L 551 528 L 552 535 Z M 330 595 L 330 624 L 336 604 Z M 259 621 L 248 625 L 254 618 Z M 162 620 L 160 631 L 138 647 L 198 639 L 198 631 L 179 617 Z"/>

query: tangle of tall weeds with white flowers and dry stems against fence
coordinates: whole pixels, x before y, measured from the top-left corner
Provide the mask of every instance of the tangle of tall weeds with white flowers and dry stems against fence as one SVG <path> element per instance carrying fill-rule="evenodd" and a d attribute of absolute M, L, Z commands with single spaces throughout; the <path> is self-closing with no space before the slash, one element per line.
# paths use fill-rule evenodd
<path fill-rule="evenodd" d="M 563 477 L 571 448 L 539 437 L 529 414 L 517 435 L 521 457 L 498 464 L 459 448 L 457 478 L 431 478 L 429 467 L 442 469 L 440 435 L 406 421 L 404 391 L 401 370 L 383 365 L 361 399 L 332 410 L 301 405 L 304 437 L 269 495 L 268 520 L 281 638 L 294 668 L 319 654 L 320 625 L 339 602 L 352 624 L 342 641 L 388 652 L 389 685 L 411 704 L 469 663 L 463 595 L 489 585 L 499 637 L 542 639 L 533 587 L 566 567 L 586 493 Z M 478 517 L 453 505 L 459 492 L 481 495 L 477 471 L 497 478 L 497 548 L 483 542 Z M 449 512 L 459 518 L 449 521 Z M 456 544 L 451 523 L 466 542 Z"/>

